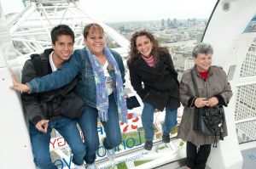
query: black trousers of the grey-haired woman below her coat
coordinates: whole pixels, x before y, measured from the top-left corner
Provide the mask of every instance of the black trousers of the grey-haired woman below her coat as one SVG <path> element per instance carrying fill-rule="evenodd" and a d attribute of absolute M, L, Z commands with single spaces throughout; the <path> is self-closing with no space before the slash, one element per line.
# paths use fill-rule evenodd
<path fill-rule="evenodd" d="M 207 159 L 211 152 L 211 144 L 197 146 L 187 142 L 187 166 L 190 169 L 205 169 Z"/>

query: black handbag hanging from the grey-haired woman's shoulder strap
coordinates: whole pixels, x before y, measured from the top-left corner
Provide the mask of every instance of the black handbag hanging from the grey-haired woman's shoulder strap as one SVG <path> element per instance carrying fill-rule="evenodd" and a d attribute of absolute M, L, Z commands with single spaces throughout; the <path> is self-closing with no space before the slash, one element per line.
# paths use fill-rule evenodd
<path fill-rule="evenodd" d="M 195 96 L 199 96 L 195 78 L 192 74 L 192 81 L 195 89 Z M 224 109 L 222 105 L 214 107 L 195 108 L 195 123 L 193 130 L 202 132 L 208 136 L 215 136 L 215 147 L 217 147 L 217 136 L 219 139 L 224 140 Z M 214 147 L 213 144 L 213 147 Z"/>

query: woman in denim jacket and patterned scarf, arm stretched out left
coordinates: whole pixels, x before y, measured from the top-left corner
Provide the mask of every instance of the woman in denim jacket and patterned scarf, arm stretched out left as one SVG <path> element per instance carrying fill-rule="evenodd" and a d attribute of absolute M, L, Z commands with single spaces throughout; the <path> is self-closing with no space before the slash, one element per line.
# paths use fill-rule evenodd
<path fill-rule="evenodd" d="M 72 82 L 80 74 L 77 92 L 86 105 L 79 117 L 87 150 L 84 161 L 87 168 L 96 168 L 96 150 L 99 147 L 97 119 L 106 132 L 102 143 L 108 159 L 113 160 L 114 148 L 122 141 L 119 120 L 127 121 L 123 87 L 125 67 L 120 55 L 105 47 L 101 25 L 93 23 L 84 27 L 84 43 L 87 48 L 75 50 L 71 59 L 54 73 L 35 78 L 26 85 L 14 81 L 13 88 L 21 92 L 45 92 Z"/>

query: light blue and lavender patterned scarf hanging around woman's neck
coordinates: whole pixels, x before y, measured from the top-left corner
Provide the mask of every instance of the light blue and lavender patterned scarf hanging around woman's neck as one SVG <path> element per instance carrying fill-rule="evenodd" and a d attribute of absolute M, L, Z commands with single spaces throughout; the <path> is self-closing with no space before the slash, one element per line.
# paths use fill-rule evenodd
<path fill-rule="evenodd" d="M 119 65 L 108 48 L 103 48 L 103 52 L 107 56 L 109 64 L 113 66 L 115 73 L 116 87 L 113 88 L 113 90 L 115 90 L 115 101 L 119 112 L 119 120 L 127 122 L 128 110 L 126 107 L 125 88 L 123 86 L 124 84 L 119 70 Z M 90 50 L 87 50 L 87 54 L 89 55 L 90 64 L 92 66 L 96 82 L 96 108 L 98 110 L 98 118 L 100 121 L 108 121 L 108 90 L 106 87 L 104 70 L 98 59 L 96 59 L 96 56 L 93 55 Z"/>

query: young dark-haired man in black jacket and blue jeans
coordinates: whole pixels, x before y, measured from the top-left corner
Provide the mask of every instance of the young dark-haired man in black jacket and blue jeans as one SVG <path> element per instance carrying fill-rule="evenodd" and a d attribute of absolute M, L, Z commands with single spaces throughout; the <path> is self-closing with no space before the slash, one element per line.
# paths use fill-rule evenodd
<path fill-rule="evenodd" d="M 22 82 L 50 74 L 57 70 L 73 54 L 74 33 L 68 25 L 57 25 L 51 31 L 52 48 L 43 54 L 33 54 L 22 70 Z M 45 73 L 46 70 L 46 73 Z M 73 82 L 66 87 L 74 88 Z M 65 88 L 62 90 L 66 90 Z M 21 101 L 29 121 L 29 132 L 35 164 L 41 169 L 57 169 L 49 154 L 50 132 L 55 128 L 72 149 L 76 168 L 84 168 L 85 148 L 77 128 L 77 122 L 61 115 L 61 89 L 46 93 L 21 94 Z M 73 92 L 73 91 L 72 91 Z M 60 109 L 59 109 L 60 108 Z M 58 110 L 59 109 L 59 110 Z"/>

